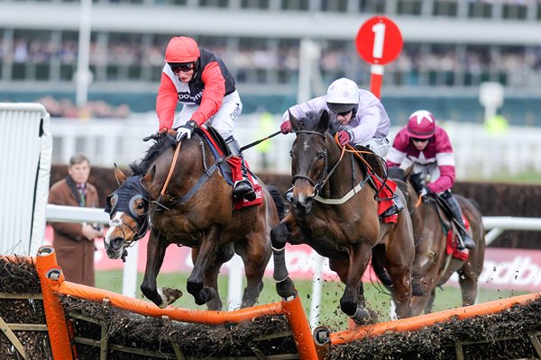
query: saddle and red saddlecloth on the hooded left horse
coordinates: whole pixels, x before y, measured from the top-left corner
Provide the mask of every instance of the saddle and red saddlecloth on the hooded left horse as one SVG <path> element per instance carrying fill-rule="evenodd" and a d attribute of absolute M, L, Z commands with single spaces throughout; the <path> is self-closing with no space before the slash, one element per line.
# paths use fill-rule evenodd
<path fill-rule="evenodd" d="M 202 135 L 203 139 L 206 139 L 207 144 L 211 148 L 215 159 L 218 161 L 220 174 L 222 174 L 222 177 L 224 177 L 225 182 L 233 186 L 235 181 L 242 180 L 243 175 L 241 173 L 241 160 L 238 157 L 230 157 L 231 152 L 229 151 L 229 148 L 227 148 L 225 140 L 220 136 L 218 131 L 210 126 L 197 128 L 197 131 L 200 135 Z M 225 159 L 225 161 L 220 161 L 220 159 Z M 248 167 L 247 162 L 246 168 L 248 170 L 248 178 L 252 183 L 256 197 L 252 202 L 246 199 L 236 201 L 234 203 L 234 210 L 252 205 L 259 205 L 261 202 L 263 202 L 261 185 L 258 183 L 257 177 L 253 175 L 252 171 Z"/>

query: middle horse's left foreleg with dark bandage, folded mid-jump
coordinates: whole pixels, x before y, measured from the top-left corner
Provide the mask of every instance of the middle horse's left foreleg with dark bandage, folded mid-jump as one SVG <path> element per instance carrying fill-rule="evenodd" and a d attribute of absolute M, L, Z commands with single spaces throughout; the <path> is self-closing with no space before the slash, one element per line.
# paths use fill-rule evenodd
<path fill-rule="evenodd" d="M 274 273 L 272 277 L 276 282 L 276 292 L 284 299 L 295 295 L 295 284 L 289 278 L 288 268 L 286 266 L 286 243 L 288 242 L 288 236 L 289 230 L 283 220 L 271 230 L 272 257 L 274 258 Z"/>

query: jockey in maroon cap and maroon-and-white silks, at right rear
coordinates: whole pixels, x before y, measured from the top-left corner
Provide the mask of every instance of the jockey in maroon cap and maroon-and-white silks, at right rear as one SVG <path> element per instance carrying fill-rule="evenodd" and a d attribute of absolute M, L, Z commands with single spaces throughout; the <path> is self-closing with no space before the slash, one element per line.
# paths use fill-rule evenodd
<path fill-rule="evenodd" d="M 422 178 L 430 176 L 430 183 L 423 184 L 419 195 L 438 193 L 449 204 L 458 222 L 459 248 L 473 248 L 475 243 L 466 233 L 460 205 L 451 193 L 454 184 L 454 153 L 447 132 L 436 125 L 431 112 L 418 110 L 409 116 L 408 125 L 399 131 L 387 157 L 388 166 L 402 169 L 413 167 Z"/>

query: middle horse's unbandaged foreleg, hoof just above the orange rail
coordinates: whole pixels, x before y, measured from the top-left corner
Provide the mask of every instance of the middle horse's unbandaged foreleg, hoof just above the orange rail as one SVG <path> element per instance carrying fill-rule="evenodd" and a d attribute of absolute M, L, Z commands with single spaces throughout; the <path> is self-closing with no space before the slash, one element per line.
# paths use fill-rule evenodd
<path fill-rule="evenodd" d="M 371 257 L 371 245 L 365 241 L 353 247 L 350 254 L 349 270 L 340 309 L 358 324 L 375 322 L 376 315 L 366 308 L 362 288 L 362 275 Z"/>

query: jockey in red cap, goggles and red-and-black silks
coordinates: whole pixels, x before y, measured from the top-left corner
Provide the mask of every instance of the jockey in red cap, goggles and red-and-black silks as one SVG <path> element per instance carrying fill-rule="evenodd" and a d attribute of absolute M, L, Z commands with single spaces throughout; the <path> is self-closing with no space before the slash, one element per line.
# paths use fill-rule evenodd
<path fill-rule="evenodd" d="M 160 131 L 177 129 L 177 141 L 180 141 L 189 139 L 198 126 L 211 125 L 241 163 L 243 178 L 234 183 L 234 198 L 255 200 L 241 148 L 233 137 L 234 123 L 243 111 L 243 103 L 224 62 L 213 52 L 199 48 L 195 40 L 180 36 L 171 38 L 165 50 L 165 63 L 156 99 Z M 175 118 L 179 102 L 183 106 Z"/>

